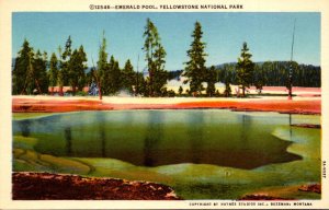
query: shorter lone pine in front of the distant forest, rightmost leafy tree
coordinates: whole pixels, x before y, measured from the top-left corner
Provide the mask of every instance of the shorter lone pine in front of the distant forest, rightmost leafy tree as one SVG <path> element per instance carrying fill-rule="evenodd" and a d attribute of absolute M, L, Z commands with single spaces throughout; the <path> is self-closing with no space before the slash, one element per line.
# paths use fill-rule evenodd
<path fill-rule="evenodd" d="M 252 84 L 254 63 L 251 61 L 251 57 L 245 42 L 237 63 L 237 83 L 242 88 L 242 96 L 246 95 L 246 88 L 250 88 Z"/>

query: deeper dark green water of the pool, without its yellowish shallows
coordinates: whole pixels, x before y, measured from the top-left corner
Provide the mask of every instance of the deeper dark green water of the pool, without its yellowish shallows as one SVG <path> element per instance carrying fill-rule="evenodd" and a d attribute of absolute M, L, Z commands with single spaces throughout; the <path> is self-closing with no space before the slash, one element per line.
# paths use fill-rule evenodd
<path fill-rule="evenodd" d="M 272 135 L 317 117 L 229 110 L 118 110 L 14 120 L 14 135 L 35 137 L 41 153 L 111 158 L 140 166 L 179 163 L 254 168 L 300 160 Z"/>

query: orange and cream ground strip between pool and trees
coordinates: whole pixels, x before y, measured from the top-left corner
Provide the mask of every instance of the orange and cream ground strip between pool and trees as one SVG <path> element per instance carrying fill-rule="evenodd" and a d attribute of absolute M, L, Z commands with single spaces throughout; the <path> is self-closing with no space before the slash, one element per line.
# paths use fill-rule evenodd
<path fill-rule="evenodd" d="M 262 110 L 298 114 L 321 114 L 321 89 L 294 88 L 293 100 L 287 96 L 270 94 L 287 94 L 283 86 L 264 86 L 260 96 L 241 97 L 139 97 L 139 96 L 26 96 L 12 97 L 13 113 L 61 113 L 77 110 L 111 109 L 184 109 L 184 108 L 228 108 L 234 110 Z"/>

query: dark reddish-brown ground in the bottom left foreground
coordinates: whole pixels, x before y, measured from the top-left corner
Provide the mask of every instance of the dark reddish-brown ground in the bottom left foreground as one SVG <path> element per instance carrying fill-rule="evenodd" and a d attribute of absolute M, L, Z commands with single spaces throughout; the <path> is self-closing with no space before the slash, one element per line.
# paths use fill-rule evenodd
<path fill-rule="evenodd" d="M 15 172 L 13 200 L 180 200 L 161 184 L 118 178 Z"/>

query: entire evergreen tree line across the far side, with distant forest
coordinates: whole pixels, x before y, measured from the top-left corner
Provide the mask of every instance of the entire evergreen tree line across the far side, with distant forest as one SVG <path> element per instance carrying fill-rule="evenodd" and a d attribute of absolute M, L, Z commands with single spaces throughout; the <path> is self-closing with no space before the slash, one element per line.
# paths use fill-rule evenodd
<path fill-rule="evenodd" d="M 47 52 L 42 54 L 39 50 L 34 52 L 25 39 L 12 71 L 12 93 L 47 94 L 50 88 L 49 92 L 53 94 L 55 86 L 58 86 L 59 95 L 64 95 L 63 88 L 71 86 L 75 95 L 84 86 L 93 86 L 97 89 L 93 93 L 100 98 L 102 95 L 115 95 L 122 90 L 144 96 L 174 95 L 173 91 L 167 90 L 166 84 L 167 80 L 178 77 L 179 71 L 170 73 L 166 70 L 166 49 L 156 25 L 149 19 L 146 21 L 143 37 L 147 77 L 144 77 L 143 72 L 135 71 L 129 59 L 123 69 L 113 55 L 109 59 L 104 33 L 99 46 L 98 61 L 94 65 L 92 60 L 93 67 L 89 72 L 83 46 L 72 49 L 70 36 L 64 49 L 59 46 L 57 52 L 52 54 L 49 61 Z M 263 85 L 287 85 L 290 68 L 293 69 L 293 85 L 320 86 L 319 67 L 283 61 L 254 63 L 247 43 L 242 44 L 238 62 L 206 68 L 206 43 L 202 40 L 203 31 L 200 22 L 195 22 L 191 37 L 192 43 L 186 50 L 189 60 L 184 62 L 185 68 L 181 72 L 185 78 L 183 82 L 190 85 L 190 95 L 201 95 L 203 91 L 207 96 L 218 95 L 216 82 L 225 83 L 226 96 L 230 95 L 230 84 L 239 85 L 242 95 L 250 85 L 256 85 L 260 90 Z M 206 88 L 203 86 L 204 83 Z M 182 88 L 179 92 L 182 93 Z"/>

